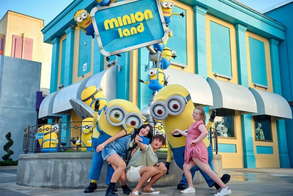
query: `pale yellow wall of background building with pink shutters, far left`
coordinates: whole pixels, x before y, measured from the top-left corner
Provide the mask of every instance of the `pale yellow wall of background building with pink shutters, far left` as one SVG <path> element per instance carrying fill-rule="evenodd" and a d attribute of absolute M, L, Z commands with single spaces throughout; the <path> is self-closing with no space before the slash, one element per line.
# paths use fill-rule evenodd
<path fill-rule="evenodd" d="M 6 29 L 6 33 L 3 33 L 5 56 L 11 56 L 13 35 L 33 39 L 32 61 L 42 63 L 40 87 L 50 88 L 52 45 L 43 42 L 41 29 L 44 28 L 44 21 L 8 11 L 0 23 L 0 32 Z"/>

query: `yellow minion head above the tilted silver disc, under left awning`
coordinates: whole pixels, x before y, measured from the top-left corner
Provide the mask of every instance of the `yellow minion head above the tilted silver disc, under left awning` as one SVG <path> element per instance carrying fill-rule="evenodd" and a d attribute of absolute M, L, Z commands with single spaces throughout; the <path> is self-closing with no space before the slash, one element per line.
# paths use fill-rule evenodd
<path fill-rule="evenodd" d="M 103 89 L 100 85 L 86 87 L 81 92 L 81 100 L 92 109 L 95 109 L 96 99 L 100 100 L 100 108 L 103 108 L 109 102 L 109 99 L 103 95 Z"/>

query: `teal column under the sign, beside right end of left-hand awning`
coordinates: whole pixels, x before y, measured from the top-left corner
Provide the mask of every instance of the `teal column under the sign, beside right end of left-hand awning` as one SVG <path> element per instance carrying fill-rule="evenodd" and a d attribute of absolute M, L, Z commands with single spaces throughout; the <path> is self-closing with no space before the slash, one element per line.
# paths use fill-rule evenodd
<path fill-rule="evenodd" d="M 116 98 L 129 100 L 129 52 L 117 57 Z"/>

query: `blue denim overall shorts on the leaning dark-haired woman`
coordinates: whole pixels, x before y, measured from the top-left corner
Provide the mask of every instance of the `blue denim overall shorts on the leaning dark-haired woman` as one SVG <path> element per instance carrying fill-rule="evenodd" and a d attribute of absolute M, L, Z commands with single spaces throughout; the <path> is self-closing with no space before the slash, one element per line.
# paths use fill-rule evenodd
<path fill-rule="evenodd" d="M 122 159 L 125 156 L 126 150 L 130 146 L 131 134 L 118 138 L 113 142 L 105 145 L 102 150 L 102 158 L 105 161 L 110 155 L 118 154 Z"/>

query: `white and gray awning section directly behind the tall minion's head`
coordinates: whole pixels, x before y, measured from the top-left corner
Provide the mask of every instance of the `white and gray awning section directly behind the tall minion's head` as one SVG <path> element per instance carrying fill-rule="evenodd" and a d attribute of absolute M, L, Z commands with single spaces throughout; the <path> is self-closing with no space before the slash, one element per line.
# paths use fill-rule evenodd
<path fill-rule="evenodd" d="M 165 69 L 164 73 L 168 84 L 179 84 L 189 91 L 193 103 L 213 105 L 212 90 L 202 76 L 172 68 Z"/>

